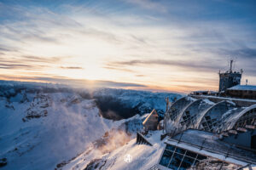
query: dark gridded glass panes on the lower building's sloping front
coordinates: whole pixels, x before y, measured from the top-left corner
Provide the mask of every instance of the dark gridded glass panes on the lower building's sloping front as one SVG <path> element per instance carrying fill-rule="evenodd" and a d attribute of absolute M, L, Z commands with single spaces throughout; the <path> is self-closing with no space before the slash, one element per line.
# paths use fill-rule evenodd
<path fill-rule="evenodd" d="M 207 159 L 207 156 L 166 144 L 166 149 L 160 159 L 160 165 L 175 170 L 183 170 L 188 169 L 203 159 Z"/>

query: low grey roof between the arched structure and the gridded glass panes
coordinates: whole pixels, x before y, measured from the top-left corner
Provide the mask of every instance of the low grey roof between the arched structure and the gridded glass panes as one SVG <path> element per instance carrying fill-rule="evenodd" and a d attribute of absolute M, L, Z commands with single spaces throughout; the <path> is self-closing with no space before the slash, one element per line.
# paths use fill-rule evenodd
<path fill-rule="evenodd" d="M 218 139 L 214 133 L 188 129 L 179 133 L 172 139 L 167 139 L 167 144 L 179 144 L 183 148 L 194 150 L 207 156 L 220 160 L 229 161 L 235 164 L 246 165 L 256 164 L 256 153 L 253 150 L 243 150 L 232 144 L 227 144 Z"/>

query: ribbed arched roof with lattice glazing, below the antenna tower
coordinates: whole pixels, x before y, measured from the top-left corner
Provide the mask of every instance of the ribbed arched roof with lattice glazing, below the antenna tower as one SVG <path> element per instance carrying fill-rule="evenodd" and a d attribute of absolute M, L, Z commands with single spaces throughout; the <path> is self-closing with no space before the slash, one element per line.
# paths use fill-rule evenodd
<path fill-rule="evenodd" d="M 188 128 L 223 133 L 256 125 L 256 105 L 240 107 L 231 101 L 212 103 L 185 97 L 177 100 L 165 117 L 166 133 L 174 135 Z"/>

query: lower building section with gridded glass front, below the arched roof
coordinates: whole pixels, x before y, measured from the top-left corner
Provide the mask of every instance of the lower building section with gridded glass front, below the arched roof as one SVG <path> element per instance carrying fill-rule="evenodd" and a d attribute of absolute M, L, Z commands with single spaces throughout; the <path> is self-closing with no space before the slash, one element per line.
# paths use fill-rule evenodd
<path fill-rule="evenodd" d="M 256 162 L 253 150 L 236 147 L 205 131 L 188 129 L 166 139 L 165 143 L 155 169 L 252 169 L 251 165 Z"/>

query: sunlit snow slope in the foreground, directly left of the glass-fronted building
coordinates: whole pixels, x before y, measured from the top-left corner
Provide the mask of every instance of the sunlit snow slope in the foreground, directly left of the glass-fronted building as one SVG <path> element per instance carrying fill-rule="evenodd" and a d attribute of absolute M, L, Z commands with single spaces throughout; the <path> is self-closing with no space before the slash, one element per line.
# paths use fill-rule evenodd
<path fill-rule="evenodd" d="M 88 154 L 81 155 L 62 169 L 84 169 L 92 160 L 98 160 L 96 164 L 104 165 L 103 169 L 109 170 L 149 169 L 158 163 L 162 150 L 166 145 L 163 141 L 160 141 L 160 134 L 160 131 L 149 132 L 148 139 L 153 146 L 136 144 L 136 139 L 132 139 L 119 149 L 103 156 L 96 156 L 97 150 L 93 150 L 90 156 Z M 127 157 L 132 158 L 132 161 L 125 161 Z M 100 167 L 94 167 L 93 169 L 100 169 Z"/>

